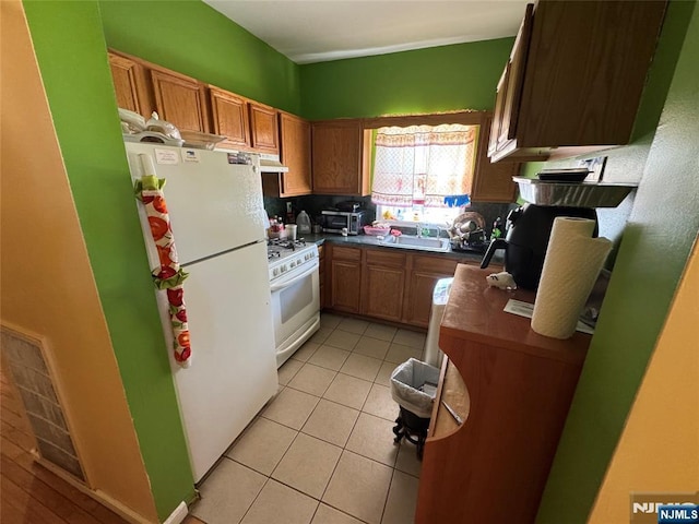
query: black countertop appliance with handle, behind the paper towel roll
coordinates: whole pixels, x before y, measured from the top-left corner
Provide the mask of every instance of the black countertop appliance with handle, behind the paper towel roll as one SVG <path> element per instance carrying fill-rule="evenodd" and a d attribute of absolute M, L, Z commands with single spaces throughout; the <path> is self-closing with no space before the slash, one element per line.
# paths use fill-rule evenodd
<path fill-rule="evenodd" d="M 557 216 L 595 221 L 592 236 L 597 236 L 597 213 L 593 209 L 524 204 L 507 216 L 505 239 L 496 238 L 490 241 L 481 267 L 488 266 L 496 250 L 505 249 L 505 271 L 512 275 L 519 287 L 535 290 L 542 277 L 544 257 Z"/>

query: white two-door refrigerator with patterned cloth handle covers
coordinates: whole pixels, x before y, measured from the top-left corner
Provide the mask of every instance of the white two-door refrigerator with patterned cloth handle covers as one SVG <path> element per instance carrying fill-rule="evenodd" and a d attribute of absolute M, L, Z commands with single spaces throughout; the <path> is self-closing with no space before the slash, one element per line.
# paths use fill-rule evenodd
<path fill-rule="evenodd" d="M 185 281 L 191 366 L 173 357 L 165 291 L 155 289 L 174 382 L 198 483 L 276 393 L 262 182 L 256 165 L 225 152 L 126 143 L 133 180 L 150 155 L 169 212 Z M 135 199 L 134 199 L 135 200 Z M 138 203 L 151 269 L 158 257 Z"/>

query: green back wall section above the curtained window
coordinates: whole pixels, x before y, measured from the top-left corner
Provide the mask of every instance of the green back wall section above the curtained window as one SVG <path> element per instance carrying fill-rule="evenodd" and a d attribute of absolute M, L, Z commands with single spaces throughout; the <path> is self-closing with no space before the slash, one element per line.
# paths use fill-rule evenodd
<path fill-rule="evenodd" d="M 301 66 L 301 115 L 321 120 L 493 109 L 513 43 L 498 38 Z"/>

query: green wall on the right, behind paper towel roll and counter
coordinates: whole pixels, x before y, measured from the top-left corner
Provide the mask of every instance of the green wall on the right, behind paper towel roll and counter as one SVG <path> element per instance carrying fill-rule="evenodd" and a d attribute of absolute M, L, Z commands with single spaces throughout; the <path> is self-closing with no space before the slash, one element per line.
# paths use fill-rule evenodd
<path fill-rule="evenodd" d="M 671 8 L 668 15 L 682 17 L 679 25 L 689 27 L 686 36 L 684 32 L 675 35 L 682 51 L 668 73 L 670 91 L 544 492 L 538 524 L 587 521 L 697 241 L 699 8 L 694 1 L 672 2 Z M 688 491 L 696 488 L 687 486 Z"/>

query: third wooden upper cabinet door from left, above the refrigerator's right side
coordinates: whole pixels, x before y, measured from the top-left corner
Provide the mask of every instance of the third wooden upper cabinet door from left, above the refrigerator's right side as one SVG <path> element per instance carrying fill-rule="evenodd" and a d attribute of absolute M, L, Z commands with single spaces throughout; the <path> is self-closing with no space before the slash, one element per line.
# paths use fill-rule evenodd
<path fill-rule="evenodd" d="M 213 85 L 209 86 L 212 128 L 215 134 L 226 136 L 220 147 L 250 147 L 250 123 L 245 98 Z"/>

